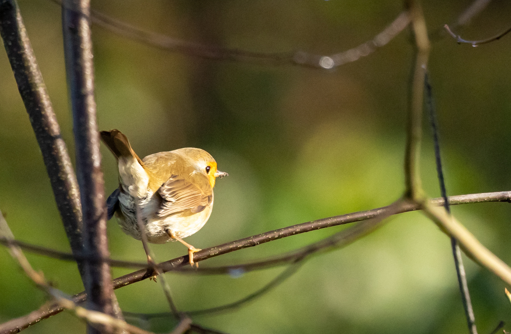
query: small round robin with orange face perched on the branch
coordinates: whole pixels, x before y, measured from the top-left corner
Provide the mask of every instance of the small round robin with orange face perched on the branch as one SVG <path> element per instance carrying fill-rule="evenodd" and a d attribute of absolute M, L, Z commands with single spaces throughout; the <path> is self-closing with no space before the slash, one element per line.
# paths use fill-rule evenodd
<path fill-rule="evenodd" d="M 201 249 L 183 238 L 200 230 L 210 218 L 215 180 L 228 174 L 219 171 L 211 154 L 201 149 L 182 148 L 141 159 L 121 131 L 101 131 L 100 135 L 119 167 L 119 187 L 106 201 L 108 220 L 115 214 L 122 230 L 136 240 L 142 240 L 145 233 L 153 244 L 179 241 L 187 246 L 193 266 L 193 254 Z M 138 228 L 137 209 L 144 231 Z"/>

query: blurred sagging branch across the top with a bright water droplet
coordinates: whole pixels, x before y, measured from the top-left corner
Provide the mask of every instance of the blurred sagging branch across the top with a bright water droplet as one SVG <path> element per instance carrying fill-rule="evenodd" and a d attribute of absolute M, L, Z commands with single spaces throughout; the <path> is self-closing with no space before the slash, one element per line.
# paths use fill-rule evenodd
<path fill-rule="evenodd" d="M 61 3 L 61 0 L 51 1 L 58 4 Z M 90 11 L 90 19 L 96 25 L 115 34 L 150 46 L 158 47 L 159 49 L 169 52 L 177 52 L 206 59 L 243 61 L 262 64 L 294 64 L 326 69 L 331 69 L 348 62 L 356 61 L 361 57 L 368 56 L 375 52 L 378 47 L 384 46 L 396 37 L 406 28 L 406 26 L 408 26 L 408 23 L 410 22 L 408 13 L 406 11 L 401 12 L 396 19 L 394 19 L 382 32 L 376 35 L 375 38 L 362 43 L 353 49 L 328 56 L 314 55 L 304 51 L 274 53 L 251 52 L 184 41 L 134 27 L 129 23 L 115 19 L 94 9 Z"/>

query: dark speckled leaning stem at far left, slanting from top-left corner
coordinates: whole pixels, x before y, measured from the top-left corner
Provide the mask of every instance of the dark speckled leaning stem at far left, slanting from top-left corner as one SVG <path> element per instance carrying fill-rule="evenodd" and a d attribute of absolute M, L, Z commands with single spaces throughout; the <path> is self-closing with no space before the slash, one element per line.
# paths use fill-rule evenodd
<path fill-rule="evenodd" d="M 76 176 L 15 0 L 0 0 L 0 35 L 29 114 L 73 254 L 82 254 L 82 207 Z M 83 279 L 83 263 L 77 261 Z"/>

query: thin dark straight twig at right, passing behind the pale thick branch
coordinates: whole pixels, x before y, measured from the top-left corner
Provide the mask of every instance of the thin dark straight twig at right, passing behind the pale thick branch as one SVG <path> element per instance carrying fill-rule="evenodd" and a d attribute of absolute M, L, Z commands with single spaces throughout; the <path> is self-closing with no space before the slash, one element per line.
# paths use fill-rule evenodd
<path fill-rule="evenodd" d="M 431 88 L 431 84 L 429 82 L 429 76 L 426 73 L 424 77 L 424 86 L 426 91 L 426 106 L 429 109 L 429 118 L 431 124 L 431 130 L 433 132 L 433 142 L 435 149 L 435 162 L 436 162 L 436 172 L 438 175 L 438 182 L 440 185 L 440 194 L 442 194 L 442 198 L 445 200 L 445 209 L 448 213 L 451 213 L 451 207 L 449 205 L 449 201 L 447 199 L 447 190 L 444 179 L 444 172 L 442 170 L 442 159 L 440 157 L 440 141 L 438 139 L 438 124 L 436 121 L 436 110 L 435 104 L 433 102 L 433 92 Z M 474 309 L 472 307 L 472 302 L 470 298 L 469 285 L 467 283 L 467 275 L 465 273 L 465 267 L 463 266 L 463 258 L 461 257 L 461 250 L 459 248 L 458 242 L 454 237 L 451 236 L 451 248 L 452 254 L 454 257 L 454 265 L 456 268 L 456 276 L 458 278 L 458 286 L 459 291 L 461 293 L 461 301 L 463 303 L 463 308 L 465 311 L 465 316 L 467 318 L 467 324 L 469 327 L 469 331 L 472 334 L 477 334 L 477 327 L 475 325 L 475 316 Z"/>

